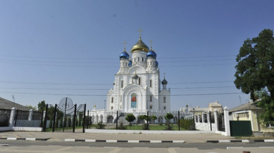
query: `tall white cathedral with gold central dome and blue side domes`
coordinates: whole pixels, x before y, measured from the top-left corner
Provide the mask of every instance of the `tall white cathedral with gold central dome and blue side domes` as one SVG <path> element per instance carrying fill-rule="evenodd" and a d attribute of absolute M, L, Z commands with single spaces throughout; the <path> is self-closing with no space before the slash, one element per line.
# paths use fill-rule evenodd
<path fill-rule="evenodd" d="M 106 109 L 129 111 L 170 110 L 168 81 L 160 80 L 155 51 L 142 41 L 131 48 L 132 58 L 124 51 L 120 54 L 120 68 L 115 74 L 113 88 L 107 93 Z M 161 89 L 161 83 L 163 88 Z"/>

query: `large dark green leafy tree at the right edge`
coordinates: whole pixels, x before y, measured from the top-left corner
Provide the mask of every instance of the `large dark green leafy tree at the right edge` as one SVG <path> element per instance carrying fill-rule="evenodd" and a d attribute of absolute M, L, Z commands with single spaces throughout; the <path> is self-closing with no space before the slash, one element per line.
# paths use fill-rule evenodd
<path fill-rule="evenodd" d="M 263 123 L 274 123 L 274 38 L 273 31 L 264 29 L 258 37 L 247 39 L 236 58 L 237 89 L 249 94 L 265 110 L 259 118 Z"/>

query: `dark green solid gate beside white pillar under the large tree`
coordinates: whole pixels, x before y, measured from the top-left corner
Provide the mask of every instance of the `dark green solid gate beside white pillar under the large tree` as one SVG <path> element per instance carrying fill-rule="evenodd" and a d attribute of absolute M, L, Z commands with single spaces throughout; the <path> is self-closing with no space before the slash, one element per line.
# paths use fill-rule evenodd
<path fill-rule="evenodd" d="M 250 120 L 230 120 L 231 136 L 252 136 Z"/>

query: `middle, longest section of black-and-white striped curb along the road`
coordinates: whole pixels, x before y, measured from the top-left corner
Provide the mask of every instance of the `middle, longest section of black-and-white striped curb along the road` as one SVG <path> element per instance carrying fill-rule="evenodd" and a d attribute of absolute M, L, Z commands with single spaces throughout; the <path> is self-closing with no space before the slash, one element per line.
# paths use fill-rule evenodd
<path fill-rule="evenodd" d="M 77 142 L 125 142 L 125 143 L 185 143 L 184 140 L 95 140 L 95 139 L 65 139 L 64 141 Z"/>

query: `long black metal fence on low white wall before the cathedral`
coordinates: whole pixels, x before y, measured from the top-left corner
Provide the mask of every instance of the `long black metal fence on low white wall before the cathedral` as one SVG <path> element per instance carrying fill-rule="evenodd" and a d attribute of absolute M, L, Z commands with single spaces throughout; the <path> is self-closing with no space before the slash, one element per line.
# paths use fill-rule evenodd
<path fill-rule="evenodd" d="M 167 118 L 172 114 L 172 118 Z M 130 119 L 132 118 L 132 119 Z M 91 110 L 86 128 L 129 130 L 218 130 L 216 112 Z"/>

